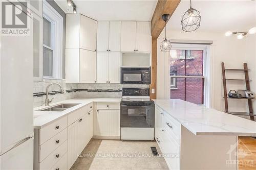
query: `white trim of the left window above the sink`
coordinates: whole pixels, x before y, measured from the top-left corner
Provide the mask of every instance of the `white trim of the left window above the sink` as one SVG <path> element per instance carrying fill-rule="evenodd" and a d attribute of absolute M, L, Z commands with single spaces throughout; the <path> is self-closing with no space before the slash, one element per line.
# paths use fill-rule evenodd
<path fill-rule="evenodd" d="M 53 49 L 53 77 L 43 76 L 43 78 L 62 79 L 63 17 L 45 0 L 42 1 L 42 8 L 42 16 L 51 22 L 50 48 Z"/>

